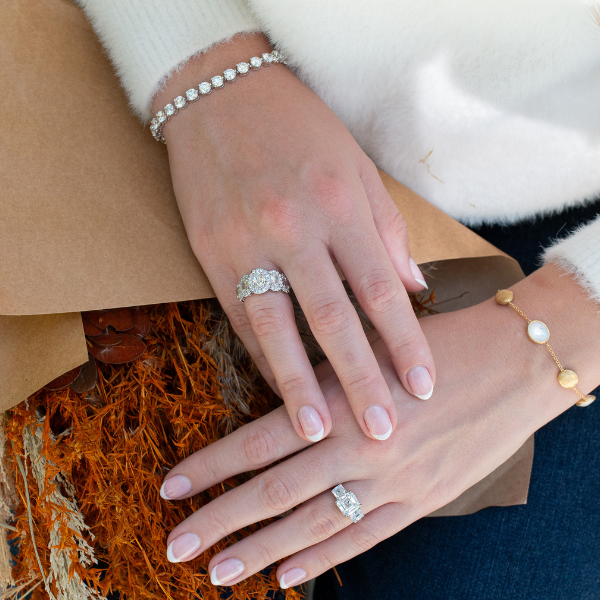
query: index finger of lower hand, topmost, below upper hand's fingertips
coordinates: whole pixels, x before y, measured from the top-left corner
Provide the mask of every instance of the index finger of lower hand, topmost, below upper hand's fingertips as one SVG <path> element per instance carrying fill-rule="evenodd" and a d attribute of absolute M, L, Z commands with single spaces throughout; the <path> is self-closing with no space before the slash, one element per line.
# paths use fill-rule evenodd
<path fill-rule="evenodd" d="M 308 442 L 296 435 L 285 407 L 279 407 L 181 461 L 165 477 L 160 495 L 165 500 L 189 498 L 306 446 Z"/>

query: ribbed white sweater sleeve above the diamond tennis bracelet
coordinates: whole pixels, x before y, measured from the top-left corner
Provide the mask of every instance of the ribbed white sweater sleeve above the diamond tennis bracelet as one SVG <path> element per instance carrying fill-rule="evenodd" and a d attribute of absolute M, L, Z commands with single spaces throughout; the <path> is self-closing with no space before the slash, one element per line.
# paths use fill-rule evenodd
<path fill-rule="evenodd" d="M 246 0 L 78 0 L 143 120 L 168 75 L 239 32 L 260 31 Z"/>

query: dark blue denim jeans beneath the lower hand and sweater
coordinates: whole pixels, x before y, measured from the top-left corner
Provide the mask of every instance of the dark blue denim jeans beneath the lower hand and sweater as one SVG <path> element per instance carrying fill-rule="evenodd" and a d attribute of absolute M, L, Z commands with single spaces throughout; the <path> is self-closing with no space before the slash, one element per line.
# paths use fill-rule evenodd
<path fill-rule="evenodd" d="M 599 209 L 475 231 L 530 273 Z M 600 400 L 536 433 L 527 505 L 421 519 L 337 570 L 343 586 L 329 571 L 315 600 L 600 600 Z"/>

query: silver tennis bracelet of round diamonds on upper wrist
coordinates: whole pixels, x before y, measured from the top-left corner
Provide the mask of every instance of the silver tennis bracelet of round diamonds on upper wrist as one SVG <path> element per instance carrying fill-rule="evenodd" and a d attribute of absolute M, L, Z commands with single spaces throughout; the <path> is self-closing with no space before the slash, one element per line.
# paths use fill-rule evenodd
<path fill-rule="evenodd" d="M 247 63 L 241 62 L 235 66 L 235 69 L 226 69 L 223 75 L 215 75 L 209 81 L 203 81 L 197 88 L 189 89 L 184 96 L 177 96 L 173 102 L 167 104 L 162 110 L 156 113 L 156 116 L 150 121 L 150 131 L 157 142 L 166 144 L 162 134 L 162 129 L 165 123 L 182 108 L 188 106 L 192 102 L 196 102 L 200 96 L 208 96 L 213 90 L 218 90 L 225 85 L 226 81 L 233 82 L 238 75 L 247 75 L 250 69 L 258 71 L 261 67 L 281 63 L 287 65 L 287 61 L 283 54 L 277 50 L 273 52 L 265 52 L 262 56 L 253 56 Z"/>

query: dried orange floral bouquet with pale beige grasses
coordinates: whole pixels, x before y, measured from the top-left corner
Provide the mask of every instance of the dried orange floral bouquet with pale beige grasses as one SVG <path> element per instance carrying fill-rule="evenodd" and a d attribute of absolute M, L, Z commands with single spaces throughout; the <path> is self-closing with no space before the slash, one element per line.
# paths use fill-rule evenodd
<path fill-rule="evenodd" d="M 433 300 L 415 295 L 415 312 L 433 312 Z M 322 352 L 295 307 L 316 364 Z M 160 486 L 183 458 L 280 400 L 214 300 L 95 311 L 83 321 L 89 362 L 0 414 L 0 600 L 216 600 L 210 557 L 260 525 L 189 563 L 167 560 L 166 537 L 254 473 L 179 502 L 162 500 Z M 271 569 L 228 597 L 260 600 L 277 590 Z"/>

